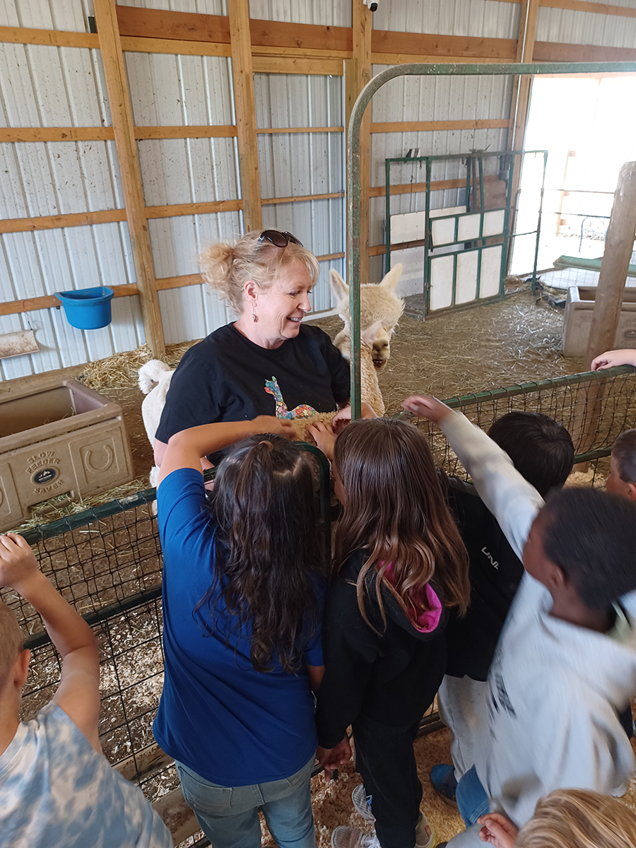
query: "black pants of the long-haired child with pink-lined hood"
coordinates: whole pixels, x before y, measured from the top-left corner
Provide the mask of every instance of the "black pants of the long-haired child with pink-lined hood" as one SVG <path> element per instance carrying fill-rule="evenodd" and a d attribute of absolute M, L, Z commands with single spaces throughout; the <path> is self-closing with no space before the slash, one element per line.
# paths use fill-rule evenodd
<path fill-rule="evenodd" d="M 421 783 L 413 740 L 420 721 L 408 728 L 360 717 L 354 722 L 355 764 L 371 795 L 371 812 L 382 848 L 414 848 Z"/>

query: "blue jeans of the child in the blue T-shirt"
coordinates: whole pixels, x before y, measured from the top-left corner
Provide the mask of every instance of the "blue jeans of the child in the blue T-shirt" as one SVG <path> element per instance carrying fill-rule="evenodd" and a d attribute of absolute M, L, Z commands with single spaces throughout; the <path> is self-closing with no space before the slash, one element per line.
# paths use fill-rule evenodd
<path fill-rule="evenodd" d="M 211 784 L 176 762 L 183 797 L 214 848 L 260 848 L 259 810 L 278 848 L 315 848 L 311 814 L 314 758 L 290 778 L 254 786 Z"/>

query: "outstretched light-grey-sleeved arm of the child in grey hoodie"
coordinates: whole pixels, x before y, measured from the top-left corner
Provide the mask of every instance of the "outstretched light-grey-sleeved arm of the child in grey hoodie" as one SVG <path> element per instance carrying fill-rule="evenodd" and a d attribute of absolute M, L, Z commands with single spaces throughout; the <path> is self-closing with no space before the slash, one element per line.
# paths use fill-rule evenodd
<path fill-rule="evenodd" d="M 505 451 L 466 416 L 426 395 L 407 398 L 402 405 L 405 410 L 433 421 L 444 432 L 471 475 L 477 494 L 521 559 L 530 527 L 544 505 L 538 491 L 516 470 Z"/>

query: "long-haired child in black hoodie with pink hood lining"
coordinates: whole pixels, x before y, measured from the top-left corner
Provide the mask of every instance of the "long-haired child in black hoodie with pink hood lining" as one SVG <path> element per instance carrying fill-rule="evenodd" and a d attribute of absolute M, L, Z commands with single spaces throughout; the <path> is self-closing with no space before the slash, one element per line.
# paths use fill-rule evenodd
<path fill-rule="evenodd" d="M 343 517 L 323 624 L 319 744 L 353 725 L 364 788 L 354 806 L 375 833 L 340 827 L 334 848 L 428 848 L 413 740 L 444 677 L 448 608 L 466 611 L 468 556 L 426 439 L 404 421 L 354 421 L 312 433 L 333 459 Z M 319 749 L 320 751 L 320 749 Z M 321 754 L 327 770 L 336 758 Z"/>

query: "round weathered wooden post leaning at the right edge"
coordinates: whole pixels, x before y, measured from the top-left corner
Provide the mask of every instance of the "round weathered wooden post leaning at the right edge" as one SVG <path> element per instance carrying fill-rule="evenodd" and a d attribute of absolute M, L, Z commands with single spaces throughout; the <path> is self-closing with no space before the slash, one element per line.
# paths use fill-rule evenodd
<path fill-rule="evenodd" d="M 599 285 L 596 288 L 592 326 L 589 329 L 588 352 L 585 354 L 586 371 L 589 371 L 595 356 L 614 347 L 635 235 L 636 162 L 626 162 L 618 175 L 610 225 L 605 238 L 605 252 L 600 263 Z M 604 382 L 598 381 L 587 387 L 583 386 L 577 392 L 572 439 L 579 454 L 594 445 L 604 388 Z"/>

